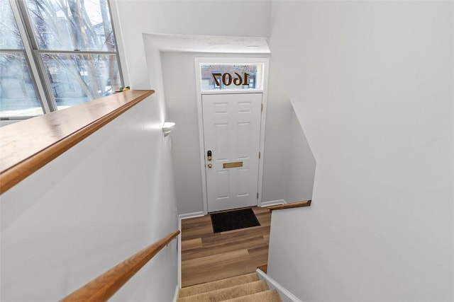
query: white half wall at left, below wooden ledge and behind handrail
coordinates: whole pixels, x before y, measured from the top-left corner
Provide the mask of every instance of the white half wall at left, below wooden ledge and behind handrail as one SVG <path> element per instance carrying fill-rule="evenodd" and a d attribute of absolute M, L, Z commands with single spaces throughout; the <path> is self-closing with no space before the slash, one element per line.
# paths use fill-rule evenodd
<path fill-rule="evenodd" d="M 57 301 L 178 228 L 163 106 L 152 95 L 1 195 L 1 301 Z M 176 285 L 173 240 L 111 300 Z"/>

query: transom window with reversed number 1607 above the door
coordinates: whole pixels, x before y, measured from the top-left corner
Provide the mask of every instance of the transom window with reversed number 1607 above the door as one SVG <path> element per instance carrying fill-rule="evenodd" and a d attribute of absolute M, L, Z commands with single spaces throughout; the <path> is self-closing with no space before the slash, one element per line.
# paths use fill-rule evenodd
<path fill-rule="evenodd" d="M 201 91 L 262 90 L 263 64 L 201 63 Z"/>

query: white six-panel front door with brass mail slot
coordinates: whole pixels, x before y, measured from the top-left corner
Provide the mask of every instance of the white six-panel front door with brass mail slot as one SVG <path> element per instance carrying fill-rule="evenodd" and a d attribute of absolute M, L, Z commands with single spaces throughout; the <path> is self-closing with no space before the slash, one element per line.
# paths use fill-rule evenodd
<path fill-rule="evenodd" d="M 262 93 L 201 100 L 208 211 L 257 205 Z"/>

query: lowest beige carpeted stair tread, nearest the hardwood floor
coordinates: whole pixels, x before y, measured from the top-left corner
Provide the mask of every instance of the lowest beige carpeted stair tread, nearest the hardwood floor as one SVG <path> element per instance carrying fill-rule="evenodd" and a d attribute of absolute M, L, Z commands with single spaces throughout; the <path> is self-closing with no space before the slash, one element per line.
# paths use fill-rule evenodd
<path fill-rule="evenodd" d="M 217 281 L 211 281 L 209 283 L 197 284 L 193 286 L 183 287 L 179 290 L 179 298 L 193 296 L 196 294 L 206 293 L 207 291 L 215 291 L 216 289 L 224 289 L 226 287 L 236 286 L 245 284 L 248 282 L 258 281 L 257 274 L 252 272 L 250 274 L 242 274 L 236 277 L 230 277 Z"/>

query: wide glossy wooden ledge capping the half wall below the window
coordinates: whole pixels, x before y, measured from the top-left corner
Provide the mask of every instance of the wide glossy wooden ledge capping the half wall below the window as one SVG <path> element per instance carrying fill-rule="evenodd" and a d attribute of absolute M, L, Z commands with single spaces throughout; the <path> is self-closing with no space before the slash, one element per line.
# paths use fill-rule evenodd
<path fill-rule="evenodd" d="M 0 129 L 0 194 L 155 91 L 124 91 Z"/>

